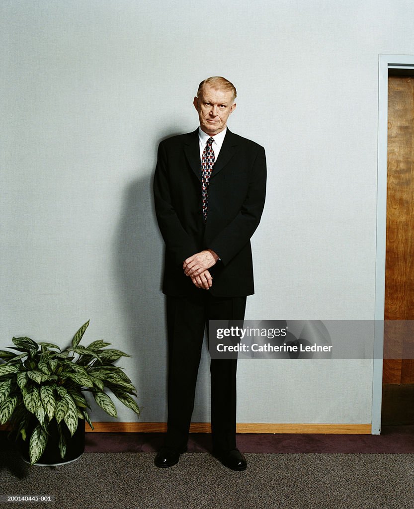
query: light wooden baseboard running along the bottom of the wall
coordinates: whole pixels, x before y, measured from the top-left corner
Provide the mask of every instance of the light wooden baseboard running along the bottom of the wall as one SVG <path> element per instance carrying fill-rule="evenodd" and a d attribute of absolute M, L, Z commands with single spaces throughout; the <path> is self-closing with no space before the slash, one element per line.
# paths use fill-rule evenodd
<path fill-rule="evenodd" d="M 94 430 L 87 425 L 89 433 L 165 433 L 165 422 L 93 422 Z M 8 431 L 8 425 L 0 431 Z M 211 433 L 208 422 L 192 422 L 190 433 Z M 315 433 L 334 435 L 370 435 L 370 424 L 276 424 L 265 422 L 240 422 L 237 433 Z"/>

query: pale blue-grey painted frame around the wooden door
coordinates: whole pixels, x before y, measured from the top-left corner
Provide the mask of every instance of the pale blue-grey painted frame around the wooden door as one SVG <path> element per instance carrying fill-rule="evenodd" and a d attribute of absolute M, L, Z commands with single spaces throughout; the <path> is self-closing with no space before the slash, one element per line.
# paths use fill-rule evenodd
<path fill-rule="evenodd" d="M 378 159 L 377 159 L 377 232 L 375 257 L 375 328 L 372 383 L 371 433 L 381 431 L 382 353 L 385 308 L 385 240 L 387 235 L 387 158 L 388 158 L 388 71 L 412 69 L 414 55 L 380 54 L 378 59 Z"/>

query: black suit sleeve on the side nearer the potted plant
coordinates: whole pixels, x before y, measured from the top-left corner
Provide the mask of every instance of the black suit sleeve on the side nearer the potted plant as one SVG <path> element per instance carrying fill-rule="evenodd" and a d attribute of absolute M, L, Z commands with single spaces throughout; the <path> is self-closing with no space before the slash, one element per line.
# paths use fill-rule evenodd
<path fill-rule="evenodd" d="M 197 245 L 184 230 L 176 211 L 171 195 L 168 172 L 167 151 L 162 144 L 158 147 L 157 165 L 154 175 L 155 213 L 161 235 L 167 247 L 168 255 L 174 257 L 177 265 L 198 251 Z"/>

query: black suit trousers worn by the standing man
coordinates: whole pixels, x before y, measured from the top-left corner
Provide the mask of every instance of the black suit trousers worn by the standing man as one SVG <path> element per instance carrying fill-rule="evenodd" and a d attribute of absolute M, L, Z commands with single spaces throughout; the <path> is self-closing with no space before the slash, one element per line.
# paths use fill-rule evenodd
<path fill-rule="evenodd" d="M 167 296 L 167 447 L 181 449 L 187 444 L 205 327 L 208 332 L 209 320 L 242 322 L 245 307 L 246 297 L 214 297 L 208 290 L 200 290 L 196 297 Z M 210 360 L 211 436 L 215 450 L 236 447 L 236 367 L 237 359 Z"/>

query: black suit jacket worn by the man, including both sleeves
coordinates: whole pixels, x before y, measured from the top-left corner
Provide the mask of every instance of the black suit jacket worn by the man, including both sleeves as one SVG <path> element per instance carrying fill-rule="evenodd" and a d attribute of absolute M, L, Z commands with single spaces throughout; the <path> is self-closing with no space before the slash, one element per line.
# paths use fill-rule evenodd
<path fill-rule="evenodd" d="M 203 249 L 220 260 L 209 269 L 215 296 L 254 293 L 250 238 L 262 215 L 266 190 L 264 148 L 227 133 L 210 177 L 203 221 L 198 129 L 159 144 L 154 176 L 155 210 L 165 241 L 163 292 L 205 292 L 184 275 L 183 261 Z"/>

